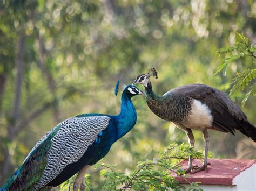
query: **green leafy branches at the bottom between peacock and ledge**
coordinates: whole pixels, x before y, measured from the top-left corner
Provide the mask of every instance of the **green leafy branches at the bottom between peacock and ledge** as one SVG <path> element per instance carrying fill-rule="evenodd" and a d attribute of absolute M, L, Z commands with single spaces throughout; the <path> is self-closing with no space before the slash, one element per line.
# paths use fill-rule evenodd
<path fill-rule="evenodd" d="M 180 161 L 187 159 L 189 155 L 194 159 L 203 159 L 204 155 L 201 151 L 194 151 L 193 147 L 185 144 L 171 144 L 160 153 L 159 158 L 153 160 L 139 161 L 136 168 L 130 173 L 124 173 L 117 168 L 117 165 L 100 163 L 95 168 L 103 168 L 100 175 L 104 176 L 105 182 L 102 187 L 105 190 L 185 190 L 171 175 L 184 174 L 183 169 L 178 165 Z M 212 154 L 209 154 L 211 157 Z M 191 184 L 190 190 L 197 189 L 198 182 Z M 60 188 L 64 188 L 63 185 Z"/>

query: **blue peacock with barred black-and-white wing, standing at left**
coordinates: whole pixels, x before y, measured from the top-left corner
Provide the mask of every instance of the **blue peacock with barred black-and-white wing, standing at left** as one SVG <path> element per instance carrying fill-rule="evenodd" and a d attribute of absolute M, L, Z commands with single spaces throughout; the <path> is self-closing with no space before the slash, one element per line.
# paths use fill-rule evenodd
<path fill-rule="evenodd" d="M 77 172 L 73 190 L 84 190 L 87 168 L 102 159 L 112 144 L 136 123 L 137 113 L 131 98 L 143 92 L 133 85 L 122 86 L 118 81 L 116 95 L 120 88 L 124 90 L 119 115 L 82 114 L 59 123 L 32 148 L 0 191 L 50 190 Z"/>

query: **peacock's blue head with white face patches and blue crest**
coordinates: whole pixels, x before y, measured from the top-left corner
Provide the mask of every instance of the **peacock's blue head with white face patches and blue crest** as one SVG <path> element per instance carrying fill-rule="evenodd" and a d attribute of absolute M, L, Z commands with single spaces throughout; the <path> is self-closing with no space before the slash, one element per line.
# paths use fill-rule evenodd
<path fill-rule="evenodd" d="M 120 89 L 124 89 L 123 94 L 126 94 L 129 97 L 144 95 L 144 93 L 136 86 L 133 86 L 132 84 L 126 86 L 125 84 L 120 84 L 120 81 L 118 80 L 116 83 L 116 88 L 114 89 L 114 94 L 117 95 L 118 90 Z"/>

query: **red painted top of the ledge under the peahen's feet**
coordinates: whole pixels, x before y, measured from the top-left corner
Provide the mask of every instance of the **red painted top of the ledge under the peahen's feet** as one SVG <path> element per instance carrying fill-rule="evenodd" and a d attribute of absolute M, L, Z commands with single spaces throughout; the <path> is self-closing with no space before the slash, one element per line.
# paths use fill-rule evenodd
<path fill-rule="evenodd" d="M 207 172 L 201 171 L 195 174 L 186 174 L 178 176 L 172 173 L 176 180 L 182 183 L 201 182 L 203 185 L 233 185 L 233 179 L 245 169 L 256 164 L 256 160 L 248 159 L 208 159 L 211 165 L 208 165 Z M 188 160 L 181 161 L 179 165 L 183 169 L 187 167 Z M 193 165 L 201 165 L 198 159 L 193 160 Z"/>

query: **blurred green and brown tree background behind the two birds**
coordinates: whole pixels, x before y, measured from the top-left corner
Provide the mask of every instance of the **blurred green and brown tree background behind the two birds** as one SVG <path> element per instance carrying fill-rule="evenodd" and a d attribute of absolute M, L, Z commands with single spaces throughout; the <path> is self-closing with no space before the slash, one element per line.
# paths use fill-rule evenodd
<path fill-rule="evenodd" d="M 226 76 L 214 75 L 223 59 L 218 49 L 239 39 L 234 31 L 256 44 L 255 1 L 1 1 L 0 180 L 64 119 L 88 112 L 117 114 L 118 79 L 129 84 L 156 67 L 159 79 L 152 84 L 159 95 L 189 83 L 228 93 L 235 74 L 255 68 L 255 58 L 245 56 L 230 63 Z M 248 88 L 232 97 L 239 105 Z M 252 124 L 255 101 L 251 96 L 243 108 Z M 187 142 L 183 131 L 147 108 L 143 96 L 133 103 L 136 126 L 104 158 L 124 172 L 174 141 Z M 210 136 L 215 157 L 256 157 L 255 143 L 239 132 L 233 137 L 210 131 Z M 201 133 L 195 137 L 196 148 L 203 148 Z M 95 190 L 104 181 L 98 171 L 90 171 Z"/>

